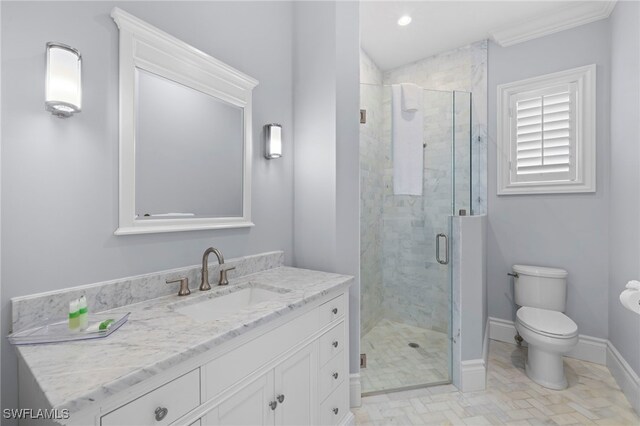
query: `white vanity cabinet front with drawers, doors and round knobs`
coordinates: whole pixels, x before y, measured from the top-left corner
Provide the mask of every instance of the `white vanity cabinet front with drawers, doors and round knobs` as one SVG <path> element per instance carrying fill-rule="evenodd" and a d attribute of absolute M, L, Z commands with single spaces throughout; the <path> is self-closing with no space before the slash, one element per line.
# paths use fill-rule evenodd
<path fill-rule="evenodd" d="M 151 389 L 138 391 L 125 403 L 120 397 L 117 405 L 104 404 L 101 413 L 94 415 L 95 423 L 275 426 L 351 422 L 347 336 L 348 293 L 341 290 L 231 339 L 198 358 L 199 362 L 176 367 L 173 375 L 163 373 L 166 380 L 159 383 L 156 378 Z"/>

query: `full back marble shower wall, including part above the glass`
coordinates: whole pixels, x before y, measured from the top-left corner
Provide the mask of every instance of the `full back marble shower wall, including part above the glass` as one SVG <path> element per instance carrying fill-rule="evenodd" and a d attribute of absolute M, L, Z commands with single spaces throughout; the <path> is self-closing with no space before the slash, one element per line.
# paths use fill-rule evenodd
<path fill-rule="evenodd" d="M 385 318 L 449 331 L 449 271 L 436 261 L 436 234 L 449 233 L 449 216 L 460 209 L 484 210 L 486 193 L 472 175 L 486 174 L 486 155 L 478 154 L 486 128 L 486 41 L 423 59 L 383 74 L 383 83 L 412 82 L 425 89 L 424 195 L 392 192 L 390 90 L 383 91 L 385 193 L 383 205 L 383 288 Z M 432 90 L 437 89 L 437 90 Z M 471 91 L 472 94 L 469 94 Z M 453 91 L 458 91 L 455 95 Z M 482 116 L 484 111 L 484 116 Z M 471 119 L 473 118 L 473 123 Z M 451 149 L 455 143 L 455 168 Z M 476 142 L 472 142 L 476 141 Z M 486 140 L 485 140 L 486 142 Z M 477 158 L 476 158 L 477 157 Z M 452 182 L 455 185 L 452 187 Z M 474 189 L 475 188 L 475 189 Z M 455 191 L 455 205 L 452 205 Z M 473 197 L 473 199 L 472 199 Z"/>

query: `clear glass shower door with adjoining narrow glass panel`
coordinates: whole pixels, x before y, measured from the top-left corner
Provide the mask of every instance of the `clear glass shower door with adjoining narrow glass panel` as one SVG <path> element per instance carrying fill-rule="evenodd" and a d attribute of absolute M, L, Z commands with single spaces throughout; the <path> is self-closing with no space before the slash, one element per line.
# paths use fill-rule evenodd
<path fill-rule="evenodd" d="M 398 195 L 392 88 L 360 85 L 363 394 L 451 382 L 450 216 L 471 214 L 471 97 L 422 90 L 422 195 Z"/>

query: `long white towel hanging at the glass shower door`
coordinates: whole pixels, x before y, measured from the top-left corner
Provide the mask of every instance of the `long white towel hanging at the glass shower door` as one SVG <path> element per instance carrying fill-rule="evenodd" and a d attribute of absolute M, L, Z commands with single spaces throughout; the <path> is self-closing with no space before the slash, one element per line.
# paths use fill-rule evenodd
<path fill-rule="evenodd" d="M 416 111 L 403 111 L 400 85 L 394 84 L 391 91 L 393 95 L 393 193 L 422 195 L 424 167 L 422 108 L 419 105 L 420 108 Z M 421 92 L 420 96 L 422 96 Z"/>

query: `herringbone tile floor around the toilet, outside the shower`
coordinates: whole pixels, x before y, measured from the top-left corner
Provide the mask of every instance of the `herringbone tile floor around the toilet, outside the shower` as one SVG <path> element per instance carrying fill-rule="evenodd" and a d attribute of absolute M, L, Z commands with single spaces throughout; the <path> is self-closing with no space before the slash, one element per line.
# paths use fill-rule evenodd
<path fill-rule="evenodd" d="M 565 358 L 569 388 L 553 391 L 524 372 L 525 348 L 491 341 L 487 390 L 453 385 L 362 398 L 358 425 L 640 425 L 602 365 Z"/>

